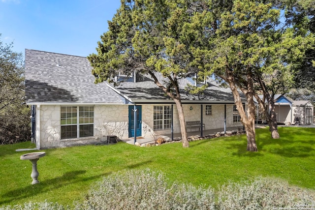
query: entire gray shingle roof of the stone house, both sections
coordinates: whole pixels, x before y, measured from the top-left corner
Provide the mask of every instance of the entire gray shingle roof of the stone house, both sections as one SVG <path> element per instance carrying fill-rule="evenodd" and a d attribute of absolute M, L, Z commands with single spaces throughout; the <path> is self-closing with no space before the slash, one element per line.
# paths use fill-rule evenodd
<path fill-rule="evenodd" d="M 85 57 L 27 49 L 25 65 L 27 103 L 124 104 L 126 100 L 122 95 L 133 102 L 170 99 L 149 75 L 139 77 L 137 83 L 123 82 L 116 87 L 111 85 L 116 91 L 106 83 L 94 84 L 92 67 Z M 209 83 L 204 94 L 189 94 L 185 91 L 187 84 L 191 84 L 188 79 L 180 80 L 182 100 L 207 103 L 234 101 L 231 90 L 221 88 L 215 81 Z M 242 99 L 245 101 L 244 97 Z"/>

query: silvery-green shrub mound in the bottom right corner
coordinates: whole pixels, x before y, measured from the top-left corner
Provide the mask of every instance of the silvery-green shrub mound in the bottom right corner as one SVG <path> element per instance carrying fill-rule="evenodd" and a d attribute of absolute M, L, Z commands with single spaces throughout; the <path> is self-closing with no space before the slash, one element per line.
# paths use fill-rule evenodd
<path fill-rule="evenodd" d="M 289 186 L 287 182 L 257 178 L 247 183 L 229 183 L 218 192 L 217 209 L 269 210 L 315 207 L 314 191 Z"/>

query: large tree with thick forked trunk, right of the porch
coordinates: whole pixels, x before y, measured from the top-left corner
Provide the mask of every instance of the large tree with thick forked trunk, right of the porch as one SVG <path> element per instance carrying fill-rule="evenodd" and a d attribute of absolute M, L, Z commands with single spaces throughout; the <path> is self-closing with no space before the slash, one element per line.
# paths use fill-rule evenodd
<path fill-rule="evenodd" d="M 219 2 L 208 1 L 207 12 L 201 18 L 200 34 L 205 44 L 191 47 L 194 65 L 204 74 L 215 73 L 229 84 L 248 134 L 248 149 L 256 151 L 253 97 L 260 90 L 270 97 L 292 86 L 292 66 L 304 58 L 306 49 L 312 48 L 314 35 L 302 27 L 308 16 L 303 16 L 299 28 L 281 22 L 281 13 L 288 7 L 282 1 Z M 288 2 L 290 6 L 294 3 Z M 247 98 L 247 112 L 238 89 Z"/>

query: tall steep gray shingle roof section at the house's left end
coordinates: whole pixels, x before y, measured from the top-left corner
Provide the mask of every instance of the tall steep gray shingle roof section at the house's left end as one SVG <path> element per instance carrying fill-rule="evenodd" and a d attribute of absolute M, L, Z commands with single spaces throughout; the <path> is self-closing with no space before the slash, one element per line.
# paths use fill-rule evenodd
<path fill-rule="evenodd" d="M 26 49 L 25 67 L 27 103 L 123 104 L 106 84 L 94 83 L 87 58 Z"/>

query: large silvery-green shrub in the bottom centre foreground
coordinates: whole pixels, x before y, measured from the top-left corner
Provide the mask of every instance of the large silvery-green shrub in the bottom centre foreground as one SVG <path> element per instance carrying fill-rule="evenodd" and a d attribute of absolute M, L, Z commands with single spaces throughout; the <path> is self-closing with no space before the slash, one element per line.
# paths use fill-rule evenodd
<path fill-rule="evenodd" d="M 214 193 L 191 184 L 167 187 L 166 178 L 151 170 L 127 171 L 99 182 L 85 202 L 76 206 L 76 210 L 82 209 L 211 210 Z"/>

